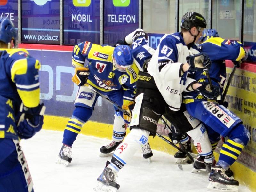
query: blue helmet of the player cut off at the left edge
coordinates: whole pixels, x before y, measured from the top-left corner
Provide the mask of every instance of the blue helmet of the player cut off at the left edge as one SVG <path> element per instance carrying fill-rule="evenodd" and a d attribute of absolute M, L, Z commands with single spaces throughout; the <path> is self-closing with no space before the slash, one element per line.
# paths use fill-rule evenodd
<path fill-rule="evenodd" d="M 8 18 L 0 18 L 0 41 L 8 44 L 11 40 L 17 39 L 17 32 L 11 20 Z"/>

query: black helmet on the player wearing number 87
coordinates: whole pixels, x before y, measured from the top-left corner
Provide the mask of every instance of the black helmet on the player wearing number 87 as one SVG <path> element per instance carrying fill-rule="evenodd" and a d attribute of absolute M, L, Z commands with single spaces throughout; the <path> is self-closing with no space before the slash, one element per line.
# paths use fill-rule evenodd
<path fill-rule="evenodd" d="M 190 30 L 192 27 L 196 27 L 198 31 L 200 28 L 206 28 L 206 20 L 197 12 L 187 12 L 181 19 L 180 27 L 186 30 Z"/>

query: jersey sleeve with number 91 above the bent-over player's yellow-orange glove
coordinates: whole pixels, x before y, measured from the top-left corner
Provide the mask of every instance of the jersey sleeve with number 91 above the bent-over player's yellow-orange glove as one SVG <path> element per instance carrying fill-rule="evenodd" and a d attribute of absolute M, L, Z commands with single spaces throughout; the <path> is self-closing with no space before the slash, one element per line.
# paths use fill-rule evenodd
<path fill-rule="evenodd" d="M 72 65 L 75 67 L 84 67 L 84 63 L 92 48 L 92 43 L 84 41 L 76 44 L 72 52 Z"/>

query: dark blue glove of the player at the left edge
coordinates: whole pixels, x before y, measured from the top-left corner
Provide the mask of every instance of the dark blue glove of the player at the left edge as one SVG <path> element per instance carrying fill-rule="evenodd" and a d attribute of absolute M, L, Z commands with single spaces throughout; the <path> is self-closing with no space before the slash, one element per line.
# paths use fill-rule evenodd
<path fill-rule="evenodd" d="M 39 132 L 43 126 L 44 116 L 35 115 L 31 119 L 24 119 L 17 126 L 17 132 L 20 139 L 28 139 L 33 137 L 36 132 Z"/>

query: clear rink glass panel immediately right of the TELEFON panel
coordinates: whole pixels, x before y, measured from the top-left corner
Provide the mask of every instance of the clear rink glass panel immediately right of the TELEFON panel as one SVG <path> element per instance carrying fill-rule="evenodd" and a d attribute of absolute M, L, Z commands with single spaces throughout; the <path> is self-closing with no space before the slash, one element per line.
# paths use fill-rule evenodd
<path fill-rule="evenodd" d="M 175 0 L 143 0 L 143 30 L 147 33 L 174 33 Z"/>

